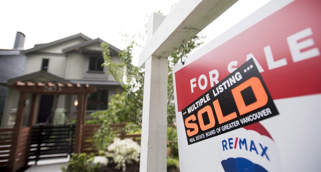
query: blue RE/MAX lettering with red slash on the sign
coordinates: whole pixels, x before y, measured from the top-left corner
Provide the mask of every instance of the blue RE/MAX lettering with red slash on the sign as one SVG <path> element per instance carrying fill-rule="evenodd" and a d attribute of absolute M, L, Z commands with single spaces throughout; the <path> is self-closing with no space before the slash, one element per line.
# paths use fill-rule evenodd
<path fill-rule="evenodd" d="M 234 145 L 234 146 L 233 146 Z M 259 145 L 259 147 L 258 147 Z M 229 149 L 245 149 L 249 152 L 256 152 L 257 155 L 261 155 L 262 157 L 266 157 L 267 160 L 270 160 L 267 156 L 267 146 L 263 146 L 261 143 L 255 143 L 253 140 L 248 141 L 246 138 L 235 138 L 235 141 L 233 138 L 228 138 L 227 140 L 222 140 L 222 148 L 223 151 L 229 150 Z"/>

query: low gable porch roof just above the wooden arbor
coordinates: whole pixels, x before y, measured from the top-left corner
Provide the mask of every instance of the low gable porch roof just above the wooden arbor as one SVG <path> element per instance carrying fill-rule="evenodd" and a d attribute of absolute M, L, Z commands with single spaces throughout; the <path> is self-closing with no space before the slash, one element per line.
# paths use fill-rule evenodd
<path fill-rule="evenodd" d="M 6 84 L 12 84 L 16 81 L 28 81 L 30 79 L 39 78 L 39 77 L 49 78 L 51 80 L 54 80 L 56 82 L 60 82 L 62 84 L 66 84 L 66 83 L 70 82 L 69 80 L 66 80 L 64 78 L 60 78 L 60 77 L 53 75 L 51 73 L 48 73 L 46 71 L 38 71 L 38 72 L 30 73 L 27 75 L 22 75 L 20 77 L 11 78 L 6 82 Z"/>

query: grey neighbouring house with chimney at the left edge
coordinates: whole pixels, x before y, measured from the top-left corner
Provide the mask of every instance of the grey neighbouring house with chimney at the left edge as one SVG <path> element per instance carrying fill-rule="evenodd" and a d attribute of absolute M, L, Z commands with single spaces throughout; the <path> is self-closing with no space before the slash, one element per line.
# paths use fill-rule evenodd
<path fill-rule="evenodd" d="M 23 75 L 26 56 L 20 54 L 20 50 L 23 50 L 24 39 L 25 35 L 17 32 L 13 49 L 0 49 L 0 84 L 6 83 L 10 78 Z M 7 92 L 7 87 L 0 85 L 0 117 L 4 111 Z"/>

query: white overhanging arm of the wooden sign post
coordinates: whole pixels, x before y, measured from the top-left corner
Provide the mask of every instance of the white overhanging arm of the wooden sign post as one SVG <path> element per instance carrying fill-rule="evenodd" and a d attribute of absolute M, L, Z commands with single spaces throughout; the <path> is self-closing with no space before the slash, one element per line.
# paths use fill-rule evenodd
<path fill-rule="evenodd" d="M 235 2 L 237 0 L 179 1 L 152 38 L 147 39 L 138 66 L 143 67 L 151 55 L 169 57 L 183 40 L 190 40 Z"/>

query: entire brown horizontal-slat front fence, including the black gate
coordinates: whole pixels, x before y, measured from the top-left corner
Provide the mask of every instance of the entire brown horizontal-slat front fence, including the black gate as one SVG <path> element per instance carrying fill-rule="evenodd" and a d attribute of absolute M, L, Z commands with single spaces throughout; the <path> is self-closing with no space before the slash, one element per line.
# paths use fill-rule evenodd
<path fill-rule="evenodd" d="M 81 152 L 98 153 L 93 135 L 100 127 L 101 125 L 84 126 Z M 141 137 L 140 134 L 126 135 L 125 123 L 111 124 L 110 127 L 121 139 Z M 0 171 L 8 166 L 12 139 L 13 128 L 0 128 Z M 24 167 L 30 161 L 35 161 L 37 164 L 39 160 L 67 158 L 74 152 L 74 143 L 75 124 L 24 127 L 18 136 L 13 171 Z"/>

